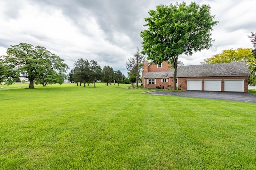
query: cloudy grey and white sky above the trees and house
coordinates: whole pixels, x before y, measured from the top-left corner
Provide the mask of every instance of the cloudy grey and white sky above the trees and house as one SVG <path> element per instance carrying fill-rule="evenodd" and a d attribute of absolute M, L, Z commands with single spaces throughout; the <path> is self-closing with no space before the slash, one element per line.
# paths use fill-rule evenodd
<path fill-rule="evenodd" d="M 10 45 L 29 43 L 46 47 L 70 69 L 82 58 L 127 76 L 126 62 L 137 47 L 142 49 L 140 32 L 147 29 L 144 18 L 149 17 L 148 11 L 176 2 L 183 1 L 0 0 L 0 55 L 6 55 Z M 218 23 L 213 27 L 215 41 L 210 49 L 179 56 L 185 65 L 200 64 L 225 49 L 253 47 L 248 35 L 256 32 L 256 0 L 193 2 L 210 5 Z"/>

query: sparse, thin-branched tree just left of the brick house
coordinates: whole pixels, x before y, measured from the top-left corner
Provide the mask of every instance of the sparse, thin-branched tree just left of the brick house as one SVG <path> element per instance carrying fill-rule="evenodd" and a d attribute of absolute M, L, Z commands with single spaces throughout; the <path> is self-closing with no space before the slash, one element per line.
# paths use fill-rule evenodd
<path fill-rule="evenodd" d="M 128 59 L 126 62 L 126 68 L 130 72 L 134 72 L 136 76 L 136 87 L 138 88 L 138 81 L 140 76 L 140 68 L 143 66 L 143 61 L 145 60 L 144 55 L 142 55 L 137 47 L 136 53 L 133 55 L 132 58 Z"/>

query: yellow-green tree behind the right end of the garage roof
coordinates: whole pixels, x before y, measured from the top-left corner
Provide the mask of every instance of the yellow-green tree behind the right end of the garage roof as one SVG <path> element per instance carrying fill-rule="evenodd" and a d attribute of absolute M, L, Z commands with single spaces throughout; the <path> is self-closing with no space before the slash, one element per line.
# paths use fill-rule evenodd
<path fill-rule="evenodd" d="M 256 83 L 256 59 L 254 58 L 251 48 L 223 50 L 220 54 L 216 54 L 210 58 L 204 59 L 204 62 L 201 62 L 201 64 L 234 62 L 245 62 L 252 74 L 249 77 L 249 82 L 251 84 Z"/>

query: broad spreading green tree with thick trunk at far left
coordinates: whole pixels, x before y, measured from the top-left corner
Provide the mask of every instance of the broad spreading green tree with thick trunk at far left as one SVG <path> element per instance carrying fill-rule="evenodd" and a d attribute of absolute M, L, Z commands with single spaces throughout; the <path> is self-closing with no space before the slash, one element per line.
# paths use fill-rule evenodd
<path fill-rule="evenodd" d="M 28 78 L 29 88 L 34 81 L 44 83 L 59 82 L 68 66 L 64 60 L 48 51 L 45 47 L 28 43 L 11 45 L 4 58 L 6 64 L 6 84 L 12 84 L 17 77 Z M 50 79 L 47 77 L 51 77 Z"/>

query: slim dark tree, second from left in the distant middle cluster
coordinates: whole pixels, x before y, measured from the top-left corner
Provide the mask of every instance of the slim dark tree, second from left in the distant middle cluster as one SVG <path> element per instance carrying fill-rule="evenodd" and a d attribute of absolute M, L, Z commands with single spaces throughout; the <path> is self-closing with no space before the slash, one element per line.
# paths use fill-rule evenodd
<path fill-rule="evenodd" d="M 90 77 L 92 78 L 94 88 L 96 88 L 96 80 L 102 77 L 102 70 L 101 67 L 98 65 L 97 61 L 90 61 Z"/>

